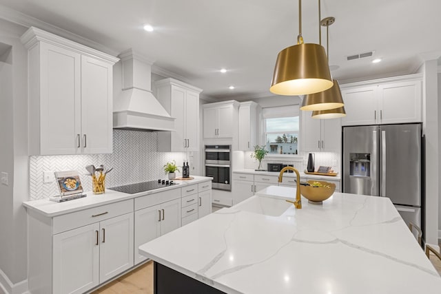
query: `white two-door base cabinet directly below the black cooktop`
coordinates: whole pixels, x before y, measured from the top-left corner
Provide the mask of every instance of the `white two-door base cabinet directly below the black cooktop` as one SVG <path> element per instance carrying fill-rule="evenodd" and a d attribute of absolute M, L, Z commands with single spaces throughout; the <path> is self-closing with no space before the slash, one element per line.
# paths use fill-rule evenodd
<path fill-rule="evenodd" d="M 142 196 L 134 200 L 135 264 L 146 258 L 139 254 L 141 244 L 181 227 L 181 189 Z"/>

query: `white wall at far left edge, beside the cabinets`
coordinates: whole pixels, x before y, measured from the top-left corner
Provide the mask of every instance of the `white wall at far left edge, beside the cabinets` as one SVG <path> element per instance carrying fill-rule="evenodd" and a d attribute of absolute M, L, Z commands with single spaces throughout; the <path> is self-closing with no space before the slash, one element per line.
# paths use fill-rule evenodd
<path fill-rule="evenodd" d="M 0 171 L 9 185 L 0 185 L 0 284 L 9 293 L 27 289 L 27 218 L 22 202 L 28 199 L 27 51 L 19 37 L 25 28 L 0 21 L 0 43 L 12 46 L 1 57 Z"/>

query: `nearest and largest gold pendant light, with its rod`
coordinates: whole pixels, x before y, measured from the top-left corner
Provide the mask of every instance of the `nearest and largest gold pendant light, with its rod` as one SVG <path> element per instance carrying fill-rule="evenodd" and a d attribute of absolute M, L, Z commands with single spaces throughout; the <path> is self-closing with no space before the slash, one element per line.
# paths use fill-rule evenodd
<path fill-rule="evenodd" d="M 302 0 L 298 0 L 297 45 L 285 48 L 277 56 L 269 91 L 278 95 L 306 95 L 332 87 L 325 48 L 303 43 Z"/>

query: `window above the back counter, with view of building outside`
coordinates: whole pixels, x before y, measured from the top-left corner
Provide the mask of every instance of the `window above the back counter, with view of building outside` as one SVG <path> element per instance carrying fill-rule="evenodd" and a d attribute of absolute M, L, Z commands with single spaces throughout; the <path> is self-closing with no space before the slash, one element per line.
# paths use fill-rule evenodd
<path fill-rule="evenodd" d="M 269 154 L 298 154 L 298 105 L 263 110 L 264 138 Z"/>

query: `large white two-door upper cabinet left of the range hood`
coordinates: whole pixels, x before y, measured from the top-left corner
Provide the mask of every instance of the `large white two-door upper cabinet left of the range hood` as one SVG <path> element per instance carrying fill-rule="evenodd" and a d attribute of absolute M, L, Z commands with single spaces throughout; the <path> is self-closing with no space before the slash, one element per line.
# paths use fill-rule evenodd
<path fill-rule="evenodd" d="M 37 28 L 28 48 L 31 155 L 112 153 L 113 56 Z"/>

